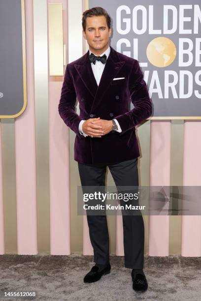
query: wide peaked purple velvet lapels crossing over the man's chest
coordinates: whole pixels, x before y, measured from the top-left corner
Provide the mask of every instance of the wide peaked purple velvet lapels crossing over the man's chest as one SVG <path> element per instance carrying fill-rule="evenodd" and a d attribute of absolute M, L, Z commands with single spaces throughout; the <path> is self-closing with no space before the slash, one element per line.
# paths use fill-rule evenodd
<path fill-rule="evenodd" d="M 91 107 L 91 111 L 99 105 L 101 98 L 106 90 L 109 88 L 111 81 L 121 70 L 125 61 L 120 61 L 118 53 L 110 46 L 110 53 L 106 60 L 102 76 L 100 78 L 99 86 L 97 85 L 91 62 L 89 60 L 89 50 L 84 55 L 84 61 L 82 64 L 75 64 L 75 68 L 80 75 L 85 87 L 89 90 L 94 97 L 94 101 Z M 90 112 L 91 113 L 91 112 Z"/>

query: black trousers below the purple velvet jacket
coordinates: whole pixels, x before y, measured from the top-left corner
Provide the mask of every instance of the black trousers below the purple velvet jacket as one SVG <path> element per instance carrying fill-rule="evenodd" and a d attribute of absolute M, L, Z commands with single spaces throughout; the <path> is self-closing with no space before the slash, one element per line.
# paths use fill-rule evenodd
<path fill-rule="evenodd" d="M 83 186 L 105 186 L 108 166 L 116 186 L 138 186 L 138 159 L 115 164 L 85 164 L 78 162 L 80 181 Z M 141 212 L 140 212 L 141 213 Z M 142 269 L 144 264 L 144 221 L 141 214 L 123 215 L 125 267 Z M 94 249 L 94 262 L 109 262 L 109 234 L 106 215 L 88 215 L 90 240 Z"/>

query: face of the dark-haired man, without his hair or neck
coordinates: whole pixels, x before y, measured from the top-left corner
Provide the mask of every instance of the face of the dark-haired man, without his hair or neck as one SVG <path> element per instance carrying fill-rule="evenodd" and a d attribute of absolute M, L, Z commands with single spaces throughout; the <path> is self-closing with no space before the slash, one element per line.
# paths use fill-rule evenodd
<path fill-rule="evenodd" d="M 111 28 L 108 29 L 104 16 L 87 17 L 85 31 L 83 36 L 91 49 L 104 51 L 108 47 Z"/>

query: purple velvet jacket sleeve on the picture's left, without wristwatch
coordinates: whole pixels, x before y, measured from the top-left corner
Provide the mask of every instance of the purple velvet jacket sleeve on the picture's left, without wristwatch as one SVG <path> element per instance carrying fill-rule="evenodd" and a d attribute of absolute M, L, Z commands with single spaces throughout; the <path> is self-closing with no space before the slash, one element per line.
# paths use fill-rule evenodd
<path fill-rule="evenodd" d="M 79 133 L 79 122 L 82 120 L 78 114 L 75 113 L 76 93 L 72 78 L 67 64 L 64 83 L 62 86 L 60 102 L 58 106 L 59 114 L 66 125 L 73 130 L 79 137 L 83 137 Z"/>

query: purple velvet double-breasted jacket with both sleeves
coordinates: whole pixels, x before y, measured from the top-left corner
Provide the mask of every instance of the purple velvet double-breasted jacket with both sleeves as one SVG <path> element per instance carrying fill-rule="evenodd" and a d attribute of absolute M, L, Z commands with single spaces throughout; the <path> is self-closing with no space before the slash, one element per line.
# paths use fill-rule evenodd
<path fill-rule="evenodd" d="M 113 78 L 124 77 L 113 80 Z M 75 112 L 76 98 L 80 114 Z M 134 108 L 130 109 L 130 104 Z M 59 103 L 59 114 L 76 133 L 74 160 L 87 164 L 112 164 L 139 156 L 135 125 L 149 118 L 152 103 L 138 60 L 110 46 L 99 86 L 89 60 L 89 50 L 67 64 Z M 101 138 L 80 135 L 81 120 L 100 117 L 117 119 L 122 132 L 111 131 Z"/>

